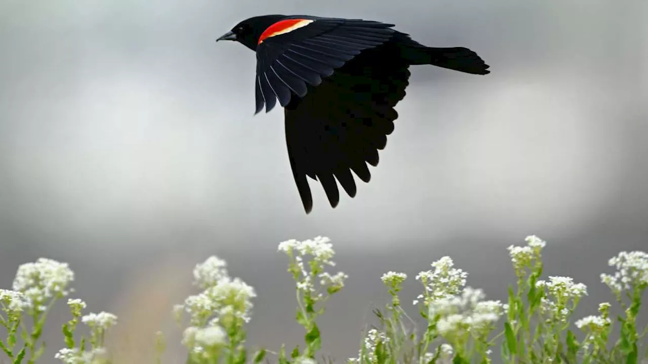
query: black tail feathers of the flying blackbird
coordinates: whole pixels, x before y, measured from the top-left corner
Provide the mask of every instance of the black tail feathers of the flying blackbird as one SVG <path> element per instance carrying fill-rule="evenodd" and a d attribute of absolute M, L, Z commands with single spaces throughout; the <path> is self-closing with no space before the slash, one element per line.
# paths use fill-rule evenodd
<path fill-rule="evenodd" d="M 490 67 L 477 53 L 464 47 L 426 48 L 429 63 L 439 67 L 472 74 L 489 74 Z"/>

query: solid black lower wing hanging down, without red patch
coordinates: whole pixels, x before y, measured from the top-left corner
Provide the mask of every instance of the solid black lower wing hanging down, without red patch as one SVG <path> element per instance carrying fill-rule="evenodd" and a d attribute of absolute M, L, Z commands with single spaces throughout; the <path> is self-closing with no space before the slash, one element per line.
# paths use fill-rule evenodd
<path fill-rule="evenodd" d="M 356 195 L 351 171 L 369 182 L 367 163 L 378 165 L 378 150 L 394 129 L 393 108 L 405 96 L 408 67 L 388 43 L 362 52 L 286 106 L 288 158 L 307 213 L 313 206 L 307 176 L 319 180 L 331 207 L 340 201 L 336 179 L 351 198 Z"/>

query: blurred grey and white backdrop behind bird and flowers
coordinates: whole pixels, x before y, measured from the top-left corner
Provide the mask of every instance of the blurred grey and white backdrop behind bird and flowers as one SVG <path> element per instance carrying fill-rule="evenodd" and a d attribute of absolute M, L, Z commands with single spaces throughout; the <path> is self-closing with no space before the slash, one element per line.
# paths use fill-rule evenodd
<path fill-rule="evenodd" d="M 254 53 L 214 43 L 260 14 L 395 23 L 492 73 L 413 67 L 371 183 L 336 209 L 312 183 L 307 216 L 283 112 L 253 117 Z M 259 295 L 249 343 L 292 348 L 303 328 L 277 244 L 321 234 L 350 276 L 321 319 L 341 360 L 387 302 L 385 271 L 410 275 L 408 302 L 450 255 L 504 299 L 505 248 L 537 234 L 546 271 L 587 284 L 594 314 L 612 300 L 608 258 L 648 249 L 647 18 L 642 0 L 1 0 L 0 287 L 40 256 L 69 262 L 75 297 L 119 315 L 120 363 L 144 362 L 156 330 L 176 363 L 170 308 L 215 254 Z M 43 363 L 63 346 L 61 306 Z"/>

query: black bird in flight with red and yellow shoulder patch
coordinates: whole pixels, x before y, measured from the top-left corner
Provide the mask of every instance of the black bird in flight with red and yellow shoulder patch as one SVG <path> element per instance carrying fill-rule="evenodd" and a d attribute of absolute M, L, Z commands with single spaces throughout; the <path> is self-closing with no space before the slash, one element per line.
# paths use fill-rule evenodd
<path fill-rule="evenodd" d="M 464 47 L 426 47 L 393 24 L 362 19 L 268 15 L 238 23 L 218 40 L 257 53 L 259 113 L 284 108 L 286 144 L 299 196 L 308 214 L 307 176 L 319 180 L 331 207 L 340 201 L 336 179 L 353 198 L 351 171 L 369 182 L 405 97 L 410 65 L 436 65 L 487 74 L 489 65 Z M 217 40 L 217 41 L 218 41 Z"/>

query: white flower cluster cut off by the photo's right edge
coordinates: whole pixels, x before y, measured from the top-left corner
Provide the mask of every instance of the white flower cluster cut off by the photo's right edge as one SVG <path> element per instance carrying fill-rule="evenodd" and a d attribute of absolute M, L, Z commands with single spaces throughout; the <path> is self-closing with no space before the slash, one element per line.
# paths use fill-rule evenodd
<path fill-rule="evenodd" d="M 643 289 L 648 286 L 648 253 L 643 251 L 622 251 L 610 258 L 608 266 L 617 269 L 614 275 L 601 274 L 601 281 L 610 287 L 617 296 L 632 288 Z"/>

